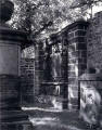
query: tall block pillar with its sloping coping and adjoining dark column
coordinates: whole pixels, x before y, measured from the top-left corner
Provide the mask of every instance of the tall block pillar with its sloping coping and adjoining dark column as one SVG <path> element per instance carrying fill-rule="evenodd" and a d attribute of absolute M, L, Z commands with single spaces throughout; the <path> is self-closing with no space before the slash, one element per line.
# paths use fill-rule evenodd
<path fill-rule="evenodd" d="M 78 108 L 78 78 L 87 69 L 86 32 L 88 25 L 89 23 L 84 20 L 77 21 L 56 34 L 52 40 L 52 44 L 62 43 L 62 90 L 69 109 Z M 64 84 L 65 82 L 67 84 Z"/>

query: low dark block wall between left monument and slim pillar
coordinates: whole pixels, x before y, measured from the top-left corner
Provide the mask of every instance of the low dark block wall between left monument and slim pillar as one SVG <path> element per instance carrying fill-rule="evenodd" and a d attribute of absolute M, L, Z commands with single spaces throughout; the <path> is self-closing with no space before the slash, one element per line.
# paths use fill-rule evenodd
<path fill-rule="evenodd" d="M 22 90 L 21 102 L 22 105 L 30 105 L 34 103 L 35 95 L 35 58 L 21 60 L 21 77 Z"/>

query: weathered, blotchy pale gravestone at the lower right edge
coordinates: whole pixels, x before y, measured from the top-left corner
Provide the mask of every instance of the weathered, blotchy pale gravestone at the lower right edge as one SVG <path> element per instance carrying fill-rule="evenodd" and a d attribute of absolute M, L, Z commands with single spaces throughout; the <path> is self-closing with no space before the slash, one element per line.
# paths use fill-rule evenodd
<path fill-rule="evenodd" d="M 90 126 L 99 127 L 102 117 L 102 74 L 85 73 L 79 79 L 79 88 L 80 117 Z"/>

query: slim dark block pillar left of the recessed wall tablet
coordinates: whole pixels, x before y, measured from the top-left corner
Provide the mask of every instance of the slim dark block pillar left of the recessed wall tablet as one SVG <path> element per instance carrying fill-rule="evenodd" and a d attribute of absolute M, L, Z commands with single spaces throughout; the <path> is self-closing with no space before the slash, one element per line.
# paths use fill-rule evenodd
<path fill-rule="evenodd" d="M 43 81 L 43 42 L 38 41 L 35 47 L 35 94 L 42 91 L 41 82 Z"/>

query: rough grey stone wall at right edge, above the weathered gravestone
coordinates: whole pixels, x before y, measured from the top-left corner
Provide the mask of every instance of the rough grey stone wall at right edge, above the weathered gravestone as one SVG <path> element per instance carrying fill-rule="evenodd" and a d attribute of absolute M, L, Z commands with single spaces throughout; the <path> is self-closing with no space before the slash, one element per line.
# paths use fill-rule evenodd
<path fill-rule="evenodd" d="M 88 66 L 102 69 L 102 12 L 95 14 L 87 31 Z"/>

